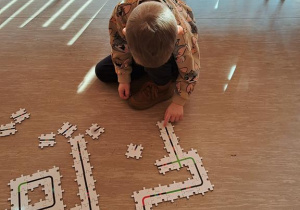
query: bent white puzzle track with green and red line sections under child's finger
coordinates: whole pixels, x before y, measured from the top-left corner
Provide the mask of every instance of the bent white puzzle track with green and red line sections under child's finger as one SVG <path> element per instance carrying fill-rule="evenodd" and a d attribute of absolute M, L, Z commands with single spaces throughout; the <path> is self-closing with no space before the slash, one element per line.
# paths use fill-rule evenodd
<path fill-rule="evenodd" d="M 162 174 L 187 167 L 187 170 L 192 174 L 192 179 L 189 178 L 179 183 L 174 182 L 170 185 L 159 185 L 150 189 L 143 188 L 143 190 L 133 192 L 132 197 L 137 210 L 150 210 L 153 205 L 158 205 L 161 202 L 174 202 L 178 198 L 189 198 L 197 194 L 204 195 L 205 192 L 212 191 L 214 188 L 208 179 L 207 171 L 202 164 L 202 158 L 197 151 L 191 149 L 188 152 L 183 152 L 173 126 L 168 123 L 164 127 L 163 123 L 163 121 L 158 122 L 157 126 L 160 129 L 161 138 L 169 155 L 157 160 L 154 165 L 158 167 L 159 172 Z"/>

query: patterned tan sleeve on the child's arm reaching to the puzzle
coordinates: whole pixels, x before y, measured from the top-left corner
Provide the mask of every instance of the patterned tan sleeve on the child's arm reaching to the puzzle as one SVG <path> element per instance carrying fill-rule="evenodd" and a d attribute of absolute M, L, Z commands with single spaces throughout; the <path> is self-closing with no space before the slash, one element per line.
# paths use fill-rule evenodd
<path fill-rule="evenodd" d="M 192 94 L 199 79 L 200 52 L 198 46 L 198 32 L 192 10 L 181 1 L 168 1 L 173 7 L 177 24 L 183 28 L 183 34 L 177 36 L 173 55 L 179 70 L 176 80 L 176 94 L 172 101 L 184 105 Z"/>

